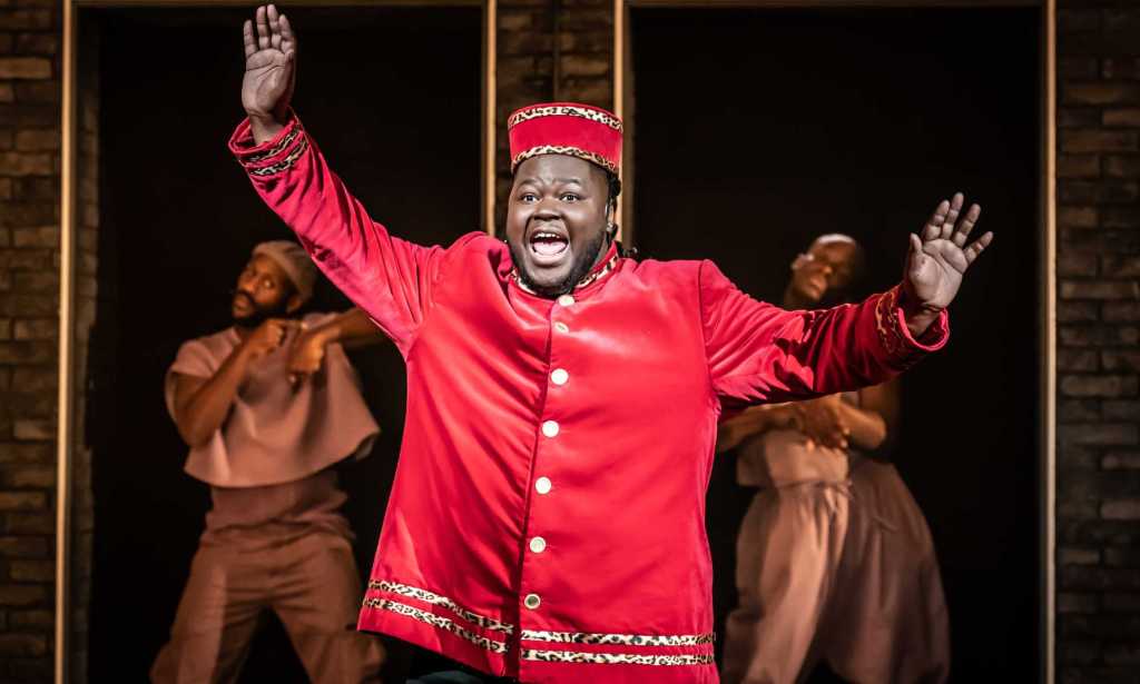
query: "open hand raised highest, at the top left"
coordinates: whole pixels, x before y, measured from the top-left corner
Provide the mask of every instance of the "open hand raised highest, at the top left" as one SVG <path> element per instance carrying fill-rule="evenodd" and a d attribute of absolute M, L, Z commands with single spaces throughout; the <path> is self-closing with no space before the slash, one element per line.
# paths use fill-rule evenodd
<path fill-rule="evenodd" d="M 242 106 L 252 121 L 284 124 L 296 82 L 296 36 L 285 15 L 272 5 L 261 6 L 254 22 L 243 26 L 245 77 Z"/>

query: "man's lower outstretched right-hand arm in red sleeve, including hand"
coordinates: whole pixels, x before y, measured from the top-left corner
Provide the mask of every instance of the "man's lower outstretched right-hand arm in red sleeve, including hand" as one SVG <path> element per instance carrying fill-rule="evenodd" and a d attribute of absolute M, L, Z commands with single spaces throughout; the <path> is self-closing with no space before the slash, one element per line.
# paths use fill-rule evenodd
<path fill-rule="evenodd" d="M 946 307 L 990 244 L 967 246 L 980 208 L 955 226 L 961 195 L 943 201 L 922 237 L 911 236 L 905 280 L 855 305 L 784 311 L 735 288 L 715 265 L 700 272 L 701 315 L 714 389 L 730 402 L 781 402 L 879 385 L 948 337 Z"/>

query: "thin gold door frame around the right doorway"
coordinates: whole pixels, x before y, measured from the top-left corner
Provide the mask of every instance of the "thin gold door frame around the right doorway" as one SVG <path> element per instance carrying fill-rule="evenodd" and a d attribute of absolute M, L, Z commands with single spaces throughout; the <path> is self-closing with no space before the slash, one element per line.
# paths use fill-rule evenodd
<path fill-rule="evenodd" d="M 1037 438 L 1039 476 L 1042 489 L 1037 511 L 1041 542 L 1040 562 L 1040 643 L 1044 650 L 1039 664 L 1037 681 L 1054 684 L 1056 666 L 1056 601 L 1057 601 L 1057 0 L 613 0 L 613 107 L 625 122 L 626 140 L 622 151 L 622 192 L 618 215 L 621 217 L 624 238 L 633 242 L 636 225 L 633 216 L 636 145 L 633 112 L 633 72 L 629 59 L 629 8 L 923 8 L 972 7 L 1008 8 L 1037 7 L 1042 10 L 1041 63 L 1041 178 L 1039 179 L 1039 245 L 1042 258 L 1037 271 L 1037 294 L 1041 304 L 1037 321 L 1042 333 L 1039 340 L 1039 397 L 1041 425 Z M 620 201 L 625 200 L 625 201 Z"/>

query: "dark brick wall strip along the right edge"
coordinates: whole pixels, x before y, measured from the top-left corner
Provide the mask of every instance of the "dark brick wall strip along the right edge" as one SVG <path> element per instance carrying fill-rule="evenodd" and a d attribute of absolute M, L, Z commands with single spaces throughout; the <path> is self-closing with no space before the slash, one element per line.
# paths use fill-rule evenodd
<path fill-rule="evenodd" d="M 1140 8 L 1058 15 L 1059 682 L 1140 671 Z"/>

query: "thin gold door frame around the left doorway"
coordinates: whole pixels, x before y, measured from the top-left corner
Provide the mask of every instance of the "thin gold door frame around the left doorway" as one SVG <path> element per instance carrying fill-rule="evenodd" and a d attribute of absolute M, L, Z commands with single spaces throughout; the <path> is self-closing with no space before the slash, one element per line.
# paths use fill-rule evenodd
<path fill-rule="evenodd" d="M 76 52 L 79 14 L 84 8 L 120 7 L 251 7 L 251 0 L 64 0 L 63 2 L 63 99 L 60 121 L 59 206 L 59 390 L 56 428 L 56 591 L 55 591 L 55 684 L 68 682 L 68 636 L 71 634 L 71 463 L 74 439 L 75 359 L 75 238 L 78 109 Z M 495 68 L 497 0 L 299 0 L 292 7 L 482 7 L 482 158 L 481 189 L 484 229 L 495 234 Z"/>

